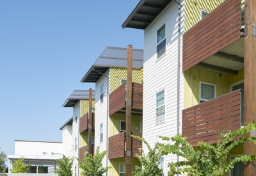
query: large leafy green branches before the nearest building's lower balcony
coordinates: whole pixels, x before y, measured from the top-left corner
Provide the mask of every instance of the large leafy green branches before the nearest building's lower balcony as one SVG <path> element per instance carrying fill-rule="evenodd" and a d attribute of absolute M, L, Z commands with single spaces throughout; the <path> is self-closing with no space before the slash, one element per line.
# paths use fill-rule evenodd
<path fill-rule="evenodd" d="M 173 141 L 174 144 L 163 144 L 158 143 L 159 152 L 164 155 L 175 154 L 177 156 L 184 157 L 188 161 L 179 161 L 177 163 L 169 163 L 170 176 L 181 174 L 182 172 L 188 172 L 189 175 L 206 175 L 215 176 L 223 175 L 225 172 L 230 172 L 234 165 L 239 161 L 255 161 L 256 156 L 239 156 L 233 159 L 231 162 L 227 163 L 227 157 L 230 150 L 244 143 L 245 141 L 254 142 L 256 144 L 255 136 L 249 138 L 239 138 L 236 140 L 237 136 L 243 136 L 243 134 L 256 129 L 256 123 L 250 123 L 242 129 L 237 129 L 234 131 L 223 131 L 219 134 L 218 143 L 216 146 L 207 144 L 205 142 L 198 142 L 198 146 L 204 150 L 204 152 L 196 151 L 188 143 L 186 137 L 182 137 L 180 134 L 172 138 L 166 138 L 160 136 L 164 141 Z M 179 170 L 177 171 L 177 166 Z M 183 166 L 190 166 L 184 168 Z M 183 167 L 183 168 L 182 168 Z"/>

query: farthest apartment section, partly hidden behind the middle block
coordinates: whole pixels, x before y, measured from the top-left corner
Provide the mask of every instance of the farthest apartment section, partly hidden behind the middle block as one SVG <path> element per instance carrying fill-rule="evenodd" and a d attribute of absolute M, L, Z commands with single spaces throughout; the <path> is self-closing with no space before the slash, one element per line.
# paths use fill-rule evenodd
<path fill-rule="evenodd" d="M 72 118 L 60 127 L 60 130 L 63 131 L 63 154 L 81 159 L 88 149 L 89 90 L 74 90 L 64 102 L 63 107 L 73 108 Z M 95 91 L 92 91 L 92 107 L 95 107 Z M 94 136 L 94 132 L 92 132 L 92 136 Z M 92 138 L 92 143 L 93 141 L 94 138 Z M 74 160 L 72 172 L 74 176 L 79 175 L 77 159 Z"/>

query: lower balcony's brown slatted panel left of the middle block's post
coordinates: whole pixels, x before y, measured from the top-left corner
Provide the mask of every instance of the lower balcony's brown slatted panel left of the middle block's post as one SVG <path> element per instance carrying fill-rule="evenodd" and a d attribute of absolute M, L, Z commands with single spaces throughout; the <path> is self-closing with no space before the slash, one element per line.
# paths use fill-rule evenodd
<path fill-rule="evenodd" d="M 113 159 L 125 156 L 125 132 L 109 137 L 108 157 Z"/>

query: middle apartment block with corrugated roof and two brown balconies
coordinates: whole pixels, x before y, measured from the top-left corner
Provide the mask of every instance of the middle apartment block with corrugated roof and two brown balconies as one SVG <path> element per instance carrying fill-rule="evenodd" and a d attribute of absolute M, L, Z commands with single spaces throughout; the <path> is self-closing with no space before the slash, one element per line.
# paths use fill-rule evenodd
<path fill-rule="evenodd" d="M 132 132 L 141 135 L 143 50 L 132 51 Z M 106 47 L 81 80 L 95 83 L 95 148 L 108 150 L 102 166 L 112 166 L 106 175 L 124 175 L 125 163 L 125 81 L 127 79 L 127 48 Z M 132 170 L 140 162 L 135 157 L 142 147 L 140 141 L 132 150 Z"/>

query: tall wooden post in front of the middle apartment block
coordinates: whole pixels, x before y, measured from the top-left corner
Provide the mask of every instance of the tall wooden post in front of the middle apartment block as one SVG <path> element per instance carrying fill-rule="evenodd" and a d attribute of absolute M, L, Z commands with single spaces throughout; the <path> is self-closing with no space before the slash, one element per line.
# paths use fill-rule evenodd
<path fill-rule="evenodd" d="M 125 175 L 131 175 L 132 45 L 127 47 Z"/>

